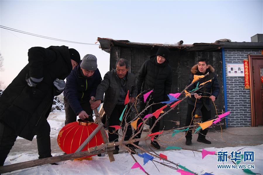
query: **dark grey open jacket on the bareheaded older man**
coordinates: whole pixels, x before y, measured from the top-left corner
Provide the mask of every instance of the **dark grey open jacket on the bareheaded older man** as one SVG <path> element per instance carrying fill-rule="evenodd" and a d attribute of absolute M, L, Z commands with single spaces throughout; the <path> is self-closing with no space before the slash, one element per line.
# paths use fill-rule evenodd
<path fill-rule="evenodd" d="M 128 72 L 126 79 L 126 90 L 129 90 L 129 97 L 136 98 L 137 87 L 135 84 L 135 75 Z M 97 87 L 96 100 L 101 100 L 104 103 L 103 109 L 107 117 L 111 116 L 113 109 L 116 106 L 118 98 L 120 96 L 121 80 L 116 73 L 116 69 L 107 72 L 102 80 L 102 82 Z"/>

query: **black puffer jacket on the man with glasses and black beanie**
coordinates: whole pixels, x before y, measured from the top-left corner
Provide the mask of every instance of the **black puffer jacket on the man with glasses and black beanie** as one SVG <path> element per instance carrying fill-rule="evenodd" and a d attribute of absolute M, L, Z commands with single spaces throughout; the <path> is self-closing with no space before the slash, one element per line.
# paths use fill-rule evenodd
<path fill-rule="evenodd" d="M 158 103 L 167 100 L 171 86 L 172 69 L 167 59 L 163 64 L 159 64 L 157 57 L 151 56 L 149 60 L 143 63 L 137 76 L 138 93 L 154 89 L 151 96 L 154 102 Z"/>

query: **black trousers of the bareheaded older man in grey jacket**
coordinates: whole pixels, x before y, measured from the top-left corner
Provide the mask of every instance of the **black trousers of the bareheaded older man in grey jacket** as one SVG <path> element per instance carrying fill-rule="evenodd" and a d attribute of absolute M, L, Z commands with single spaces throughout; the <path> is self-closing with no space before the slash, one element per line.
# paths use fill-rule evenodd
<path fill-rule="evenodd" d="M 125 105 L 116 105 L 115 108 L 113 109 L 112 113 L 111 113 L 111 116 L 109 117 L 109 126 L 114 126 L 114 125 L 120 125 L 120 120 L 119 118 L 121 117 L 121 114 L 123 112 L 125 108 Z M 127 107 L 129 109 L 129 107 Z M 128 111 L 127 109 L 127 111 Z M 125 114 L 125 112 L 124 112 Z M 123 118 L 122 118 L 122 123 L 121 123 L 121 128 L 122 128 L 122 131 L 124 129 L 124 126 L 125 126 L 125 116 L 126 115 L 123 115 Z M 126 121 L 127 122 L 130 122 L 130 116 L 128 115 L 127 118 L 126 118 Z M 113 127 L 109 127 L 109 142 L 117 142 L 118 141 L 118 130 L 115 131 L 115 128 Z M 125 134 L 125 137 L 124 137 L 124 141 L 127 141 L 129 140 L 129 138 L 131 137 L 132 135 L 132 128 L 131 128 L 131 125 L 129 124 L 128 127 L 127 127 L 127 131 L 126 131 L 126 134 Z M 119 146 L 115 146 L 115 149 L 119 150 Z"/>

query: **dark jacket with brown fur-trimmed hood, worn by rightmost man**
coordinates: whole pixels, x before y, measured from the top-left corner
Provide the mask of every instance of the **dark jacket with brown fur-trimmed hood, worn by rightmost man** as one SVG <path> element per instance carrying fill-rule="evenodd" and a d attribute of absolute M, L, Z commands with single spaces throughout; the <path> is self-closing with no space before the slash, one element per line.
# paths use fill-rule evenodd
<path fill-rule="evenodd" d="M 207 82 L 206 84 L 204 84 L 204 87 L 202 87 L 202 89 L 200 89 L 200 91 L 196 91 L 195 93 L 198 93 L 201 96 L 215 96 L 217 98 L 218 94 L 219 94 L 219 84 L 217 81 L 217 76 L 214 73 L 214 67 L 212 67 L 211 65 L 209 65 L 208 69 L 206 70 L 206 72 L 204 74 L 207 74 L 207 72 L 209 72 L 209 75 L 200 79 L 199 81 L 195 82 L 194 84 L 192 84 L 192 86 L 190 86 L 188 88 L 188 92 L 191 91 L 192 89 L 195 89 L 197 86 L 197 83 L 199 82 L 199 84 L 207 82 L 208 80 L 212 79 L 212 82 Z M 204 75 L 201 72 L 199 72 L 198 70 L 198 65 L 194 65 L 191 69 L 191 75 L 189 77 L 189 82 L 188 84 L 191 84 L 191 82 L 194 79 L 194 75 Z M 212 92 L 211 92 L 212 91 Z M 190 105 L 195 105 L 195 97 L 192 96 L 191 98 L 187 99 L 188 104 Z M 211 110 L 211 102 L 210 102 L 210 98 L 208 97 L 202 97 L 200 99 L 197 99 L 196 101 L 196 107 L 197 108 L 202 108 L 202 106 L 204 105 L 206 107 L 206 109 L 209 111 Z"/>

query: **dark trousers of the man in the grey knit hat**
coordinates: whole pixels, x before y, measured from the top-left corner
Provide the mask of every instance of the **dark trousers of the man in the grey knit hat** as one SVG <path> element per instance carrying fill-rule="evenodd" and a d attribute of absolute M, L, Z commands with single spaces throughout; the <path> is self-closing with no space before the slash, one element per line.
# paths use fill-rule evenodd
<path fill-rule="evenodd" d="M 94 122 L 94 120 L 92 119 L 93 110 L 90 108 L 90 102 L 89 101 L 85 101 L 85 102 L 79 101 L 79 102 L 83 110 L 87 113 L 87 115 L 89 115 L 88 121 Z M 65 125 L 72 123 L 72 122 L 76 122 L 77 115 L 75 114 L 75 112 L 73 111 L 73 109 L 71 108 L 71 106 L 69 105 L 65 97 L 64 97 L 64 106 L 65 106 L 65 113 L 66 113 Z"/>

